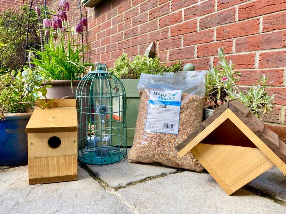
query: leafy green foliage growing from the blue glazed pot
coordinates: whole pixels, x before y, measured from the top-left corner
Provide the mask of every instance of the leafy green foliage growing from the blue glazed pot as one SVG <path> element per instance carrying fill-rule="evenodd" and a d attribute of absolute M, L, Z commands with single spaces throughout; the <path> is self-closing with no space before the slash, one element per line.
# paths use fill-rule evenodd
<path fill-rule="evenodd" d="M 41 86 L 42 82 L 40 75 L 25 68 L 23 73 L 19 69 L 0 75 L 0 120 L 4 120 L 7 113 L 32 111 L 35 100 L 41 98 L 39 93 L 46 99 L 46 88 L 50 86 Z M 49 107 L 49 101 L 46 99 L 39 107 Z"/>

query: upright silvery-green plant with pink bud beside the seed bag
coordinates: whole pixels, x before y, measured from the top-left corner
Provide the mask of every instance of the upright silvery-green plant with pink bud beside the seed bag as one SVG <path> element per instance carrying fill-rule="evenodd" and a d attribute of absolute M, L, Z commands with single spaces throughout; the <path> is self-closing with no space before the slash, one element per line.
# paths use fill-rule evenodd
<path fill-rule="evenodd" d="M 218 49 L 218 59 L 217 66 L 210 68 L 206 74 L 205 100 L 209 100 L 213 109 L 225 103 L 228 95 L 238 90 L 237 81 L 241 77 L 241 73 L 233 70 L 234 63 L 227 62 L 223 47 Z"/>

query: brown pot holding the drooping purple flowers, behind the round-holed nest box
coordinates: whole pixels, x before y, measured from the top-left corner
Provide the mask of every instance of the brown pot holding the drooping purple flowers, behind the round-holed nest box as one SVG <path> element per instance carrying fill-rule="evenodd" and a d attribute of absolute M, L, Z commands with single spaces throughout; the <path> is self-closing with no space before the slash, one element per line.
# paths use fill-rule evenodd
<path fill-rule="evenodd" d="M 61 99 L 66 96 L 75 96 L 77 92 L 77 85 L 80 83 L 80 80 L 72 81 L 72 90 L 71 90 L 71 81 L 70 80 L 52 80 L 51 82 L 43 83 L 42 85 L 51 85 L 52 87 L 47 88 L 47 98 L 48 99 Z"/>

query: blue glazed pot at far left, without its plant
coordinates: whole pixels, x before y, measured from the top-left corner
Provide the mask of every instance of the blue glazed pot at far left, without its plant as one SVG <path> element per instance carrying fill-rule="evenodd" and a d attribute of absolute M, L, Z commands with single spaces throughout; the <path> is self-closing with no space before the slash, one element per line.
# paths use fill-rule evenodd
<path fill-rule="evenodd" d="M 0 121 L 0 166 L 28 163 L 26 125 L 32 113 L 5 114 Z"/>

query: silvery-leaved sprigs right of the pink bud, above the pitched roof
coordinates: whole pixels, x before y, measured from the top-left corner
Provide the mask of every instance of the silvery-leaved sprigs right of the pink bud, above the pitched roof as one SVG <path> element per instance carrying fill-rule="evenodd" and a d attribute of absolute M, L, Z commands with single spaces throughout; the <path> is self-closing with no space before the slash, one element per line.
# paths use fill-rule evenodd
<path fill-rule="evenodd" d="M 250 111 L 255 114 L 256 117 L 260 118 L 259 113 L 271 113 L 274 105 L 274 97 L 276 94 L 271 96 L 268 95 L 268 84 L 267 84 L 269 75 L 266 77 L 264 74 L 260 75 L 257 85 L 253 84 L 251 88 L 245 91 L 240 91 L 238 94 L 234 93 L 229 95 L 231 99 L 238 99 L 245 106 L 247 106 Z"/>

